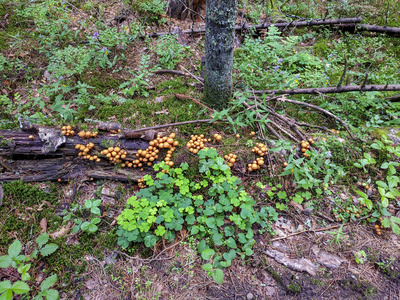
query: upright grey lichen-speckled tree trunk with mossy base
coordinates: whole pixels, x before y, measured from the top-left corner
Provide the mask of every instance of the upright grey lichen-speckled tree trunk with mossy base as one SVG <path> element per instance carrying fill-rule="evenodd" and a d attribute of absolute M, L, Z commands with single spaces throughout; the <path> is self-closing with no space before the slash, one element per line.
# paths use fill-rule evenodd
<path fill-rule="evenodd" d="M 212 108 L 228 105 L 232 93 L 232 66 L 237 0 L 207 0 L 204 101 Z"/>

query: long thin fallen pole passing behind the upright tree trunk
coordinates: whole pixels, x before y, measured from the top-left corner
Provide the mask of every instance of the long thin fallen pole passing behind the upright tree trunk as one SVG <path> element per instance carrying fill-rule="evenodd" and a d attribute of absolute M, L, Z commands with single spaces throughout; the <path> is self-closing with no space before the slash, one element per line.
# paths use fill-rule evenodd
<path fill-rule="evenodd" d="M 235 26 L 235 31 L 243 31 L 243 30 L 263 30 L 267 29 L 270 26 L 275 26 L 278 28 L 287 28 L 287 27 L 304 27 L 304 26 L 319 26 L 319 25 L 340 25 L 340 24 L 352 24 L 354 26 L 354 23 L 360 23 L 361 18 L 342 18 L 342 19 L 323 19 L 323 20 L 311 20 L 311 21 L 297 21 L 297 22 L 285 22 L 285 23 L 275 23 L 275 24 L 258 24 L 258 25 L 247 25 L 246 23 L 242 25 L 236 25 Z M 183 30 L 179 31 L 180 33 L 184 34 L 199 34 L 199 33 L 205 33 L 206 29 L 205 28 L 200 28 L 200 29 L 195 29 L 195 30 Z M 158 37 L 158 36 L 164 36 L 168 34 L 176 34 L 178 30 L 175 30 L 173 32 L 154 32 L 154 33 L 149 33 L 149 37 Z"/>

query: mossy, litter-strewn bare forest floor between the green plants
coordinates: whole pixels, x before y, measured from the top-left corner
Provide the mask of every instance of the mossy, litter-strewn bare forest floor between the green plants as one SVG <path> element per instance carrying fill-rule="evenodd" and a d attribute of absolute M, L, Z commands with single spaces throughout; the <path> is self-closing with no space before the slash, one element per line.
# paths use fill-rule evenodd
<path fill-rule="evenodd" d="M 102 5 L 104 22 L 118 27 L 118 31 L 127 30 L 126 25 L 129 22 L 115 21 L 116 16 L 123 11 L 124 4 L 117 2 L 109 6 L 104 3 Z M 76 18 L 89 19 L 89 14 L 83 8 L 80 12 L 75 14 Z M 204 10 L 200 14 L 204 15 Z M 8 26 L 7 18 L 10 17 L 5 13 L 0 16 L 0 24 L 4 24 L 4 28 Z M 237 24 L 241 24 L 242 20 L 238 15 Z M 134 19 L 131 20 L 133 21 Z M 150 29 L 149 32 L 169 32 L 177 27 L 181 31 L 204 27 L 201 18 L 196 18 L 194 22 L 190 19 L 168 18 L 167 23 L 169 24 L 147 29 Z M 189 45 L 194 50 L 189 58 L 183 59 L 176 70 L 200 75 L 204 36 L 179 34 L 179 31 L 177 33 L 179 43 Z M 263 37 L 264 34 L 265 32 L 260 36 Z M 340 39 L 340 33 L 337 33 L 336 38 Z M 240 45 L 240 34 L 237 34 L 237 39 Z M 315 43 L 317 42 L 310 38 L 301 46 L 312 47 Z M 150 53 L 149 49 L 156 49 L 157 45 L 157 39 L 139 39 L 128 44 L 123 49 L 126 60 L 119 62 L 120 65 L 117 63 L 115 69 L 121 66 L 138 70 L 140 58 Z M 240 48 L 239 45 L 237 48 Z M 13 52 L 15 49 L 11 51 L 6 47 L 1 50 L 8 57 L 16 53 Z M 19 53 L 21 59 L 24 59 L 24 52 Z M 43 54 L 32 50 L 26 55 L 32 56 L 32 64 L 43 63 Z M 28 99 L 39 95 L 39 87 L 49 81 L 43 72 L 38 74 L 36 78 L 29 80 L 29 84 L 18 75 L 12 83 L 4 81 L 3 95 L 9 96 L 13 101 L 21 101 L 21 105 L 26 108 L 30 105 Z M 104 70 L 96 70 L 92 75 L 86 73 L 80 76 L 81 80 L 84 78 L 89 84 L 98 84 L 96 89 L 104 88 L 109 95 L 121 95 L 116 91 L 118 84 L 112 83 L 122 80 L 123 76 L 118 72 L 106 74 Z M 197 107 L 190 99 L 175 98 L 175 94 L 200 98 L 201 84 L 197 80 L 191 77 L 182 79 L 171 74 L 152 74 L 150 77 L 150 96 L 142 94 L 130 106 L 114 103 L 104 105 L 90 115 L 90 118 L 119 122 L 124 128 L 140 128 L 209 117 L 202 111 L 202 107 Z M 13 87 L 15 83 L 20 86 Z M 20 98 L 16 93 L 19 93 Z M 137 91 L 134 95 L 137 96 Z M 50 101 L 52 100 L 45 100 L 46 103 Z M 77 104 L 75 107 L 78 106 Z M 75 107 L 71 106 L 72 109 Z M 49 119 L 56 115 L 54 111 L 46 111 L 46 106 L 41 112 Z M 305 116 L 309 114 L 310 111 L 304 111 Z M 15 123 L 14 127 L 17 127 L 18 109 L 11 110 L 9 115 L 10 123 Z M 4 115 L 2 117 L 6 118 Z M 308 121 L 312 120 L 313 114 L 306 118 Z M 335 126 L 335 122 L 329 118 L 319 117 L 318 120 L 330 128 Z M 85 122 L 83 118 L 82 122 Z M 87 123 L 87 128 L 93 127 L 90 121 Z M 50 127 L 56 124 L 45 125 Z M 377 132 L 390 131 L 387 127 L 376 126 L 375 129 L 369 133 L 371 140 L 379 137 Z M 235 137 L 236 132 L 225 130 L 218 123 L 173 127 L 161 133 L 174 132 L 184 142 L 191 134 L 205 133 L 212 137 L 214 133 L 221 133 L 226 142 L 222 146 L 213 143 L 210 146 L 219 147 L 219 151 L 224 154 L 236 151 L 244 159 L 251 157 L 251 153 L 246 152 L 249 148 L 246 146 L 248 141 L 256 142 L 256 138 L 250 136 L 251 130 L 246 127 L 238 131 L 240 139 Z M 310 130 L 308 134 L 319 140 L 335 140 L 334 147 L 340 148 L 344 158 L 349 154 L 351 159 L 353 150 L 346 133 L 338 136 Z M 396 136 L 394 134 L 393 139 Z M 184 147 L 174 154 L 175 164 L 193 163 L 195 159 Z M 283 171 L 280 165 L 275 174 Z M 3 172 L 1 166 L 0 172 Z M 257 175 L 249 175 L 242 171 L 243 167 L 246 168 L 245 163 L 236 165 L 232 169 L 234 175 L 241 179 L 242 185 L 257 202 L 262 202 L 265 194 L 256 187 L 256 182 L 262 181 L 267 189 L 270 188 L 270 170 L 264 168 Z M 149 173 L 155 174 L 150 168 Z M 185 230 L 177 235 L 174 243 L 157 245 L 154 252 L 142 245 L 127 250 L 117 246 L 116 216 L 125 207 L 126 200 L 137 193 L 138 187 L 134 183 L 93 181 L 90 178 L 63 183 L 2 183 L 4 196 L 0 194 L 0 254 L 6 254 L 8 245 L 16 238 L 23 241 L 24 251 L 28 253 L 32 249 L 32 240 L 44 227 L 49 233 L 58 232 L 59 237 L 53 242 L 59 249 L 55 254 L 35 263 L 32 268 L 32 284 L 36 284 L 38 289 L 46 274 L 57 273 L 59 282 L 56 289 L 59 290 L 61 299 L 400 299 L 400 237 L 390 229 L 383 228 L 378 234 L 376 223 L 366 222 L 367 217 L 370 217 L 367 214 L 365 218 L 350 219 L 347 222 L 338 221 L 334 214 L 333 208 L 337 205 L 335 203 L 347 203 L 349 199 L 354 199 L 354 189 L 362 189 L 364 182 L 371 179 L 369 175 L 361 173 L 352 173 L 352 177 L 349 176 L 349 185 L 344 182 L 329 184 L 329 195 L 310 199 L 309 202 L 313 203 L 310 207 L 306 203 L 286 203 L 288 208 L 279 211 L 278 221 L 271 225 L 274 234 L 257 234 L 254 254 L 244 260 L 236 259 L 230 267 L 224 269 L 225 278 L 221 285 L 207 276 L 201 268 L 204 260 L 197 253 L 196 240 L 190 238 Z M 281 183 L 283 189 L 287 184 L 287 190 L 295 187 L 292 182 L 279 175 L 275 181 L 277 183 Z M 373 195 L 378 195 L 377 187 L 371 191 Z M 81 209 L 85 200 L 96 198 L 102 199 L 104 209 L 99 231 L 94 234 L 69 232 L 72 225 L 63 220 L 64 210 L 74 204 L 80 205 Z M 338 199 L 339 202 L 335 200 L 334 203 L 332 199 Z M 353 204 L 359 205 L 358 202 Z M 400 217 L 398 206 L 393 205 L 390 209 L 393 216 Z M 87 214 L 83 212 L 80 217 L 87 218 Z M 1 280 L 19 277 L 20 274 L 11 267 L 0 269 Z M 20 296 L 15 299 L 18 297 Z"/>

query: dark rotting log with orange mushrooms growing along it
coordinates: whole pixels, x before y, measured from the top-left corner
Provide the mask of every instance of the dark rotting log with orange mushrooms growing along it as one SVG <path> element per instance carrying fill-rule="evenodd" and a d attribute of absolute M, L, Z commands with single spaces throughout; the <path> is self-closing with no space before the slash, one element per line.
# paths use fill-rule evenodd
<path fill-rule="evenodd" d="M 153 134 L 154 135 L 154 134 Z M 50 137 L 50 138 L 49 138 Z M 76 144 L 95 146 L 91 155 L 98 155 L 100 162 L 77 156 Z M 152 171 L 151 167 L 120 169 L 112 165 L 100 151 L 119 146 L 127 151 L 125 160 L 133 160 L 137 150 L 146 149 L 148 141 L 126 139 L 123 134 L 104 134 L 97 138 L 66 137 L 59 130 L 39 128 L 37 133 L 0 130 L 0 182 L 69 181 L 108 179 L 135 182 Z"/>

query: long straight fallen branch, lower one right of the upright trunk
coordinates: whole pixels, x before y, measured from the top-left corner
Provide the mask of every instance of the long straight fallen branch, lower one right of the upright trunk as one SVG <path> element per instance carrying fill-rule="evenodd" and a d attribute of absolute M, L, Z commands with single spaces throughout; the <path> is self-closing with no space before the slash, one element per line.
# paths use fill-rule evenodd
<path fill-rule="evenodd" d="M 400 91 L 400 84 L 389 84 L 389 85 L 346 85 L 342 87 L 326 87 L 326 88 L 308 88 L 308 89 L 289 89 L 289 90 L 255 90 L 253 91 L 256 95 L 262 94 L 288 94 L 288 95 L 299 95 L 299 94 L 332 94 L 332 93 L 348 93 L 348 92 L 391 92 Z"/>

